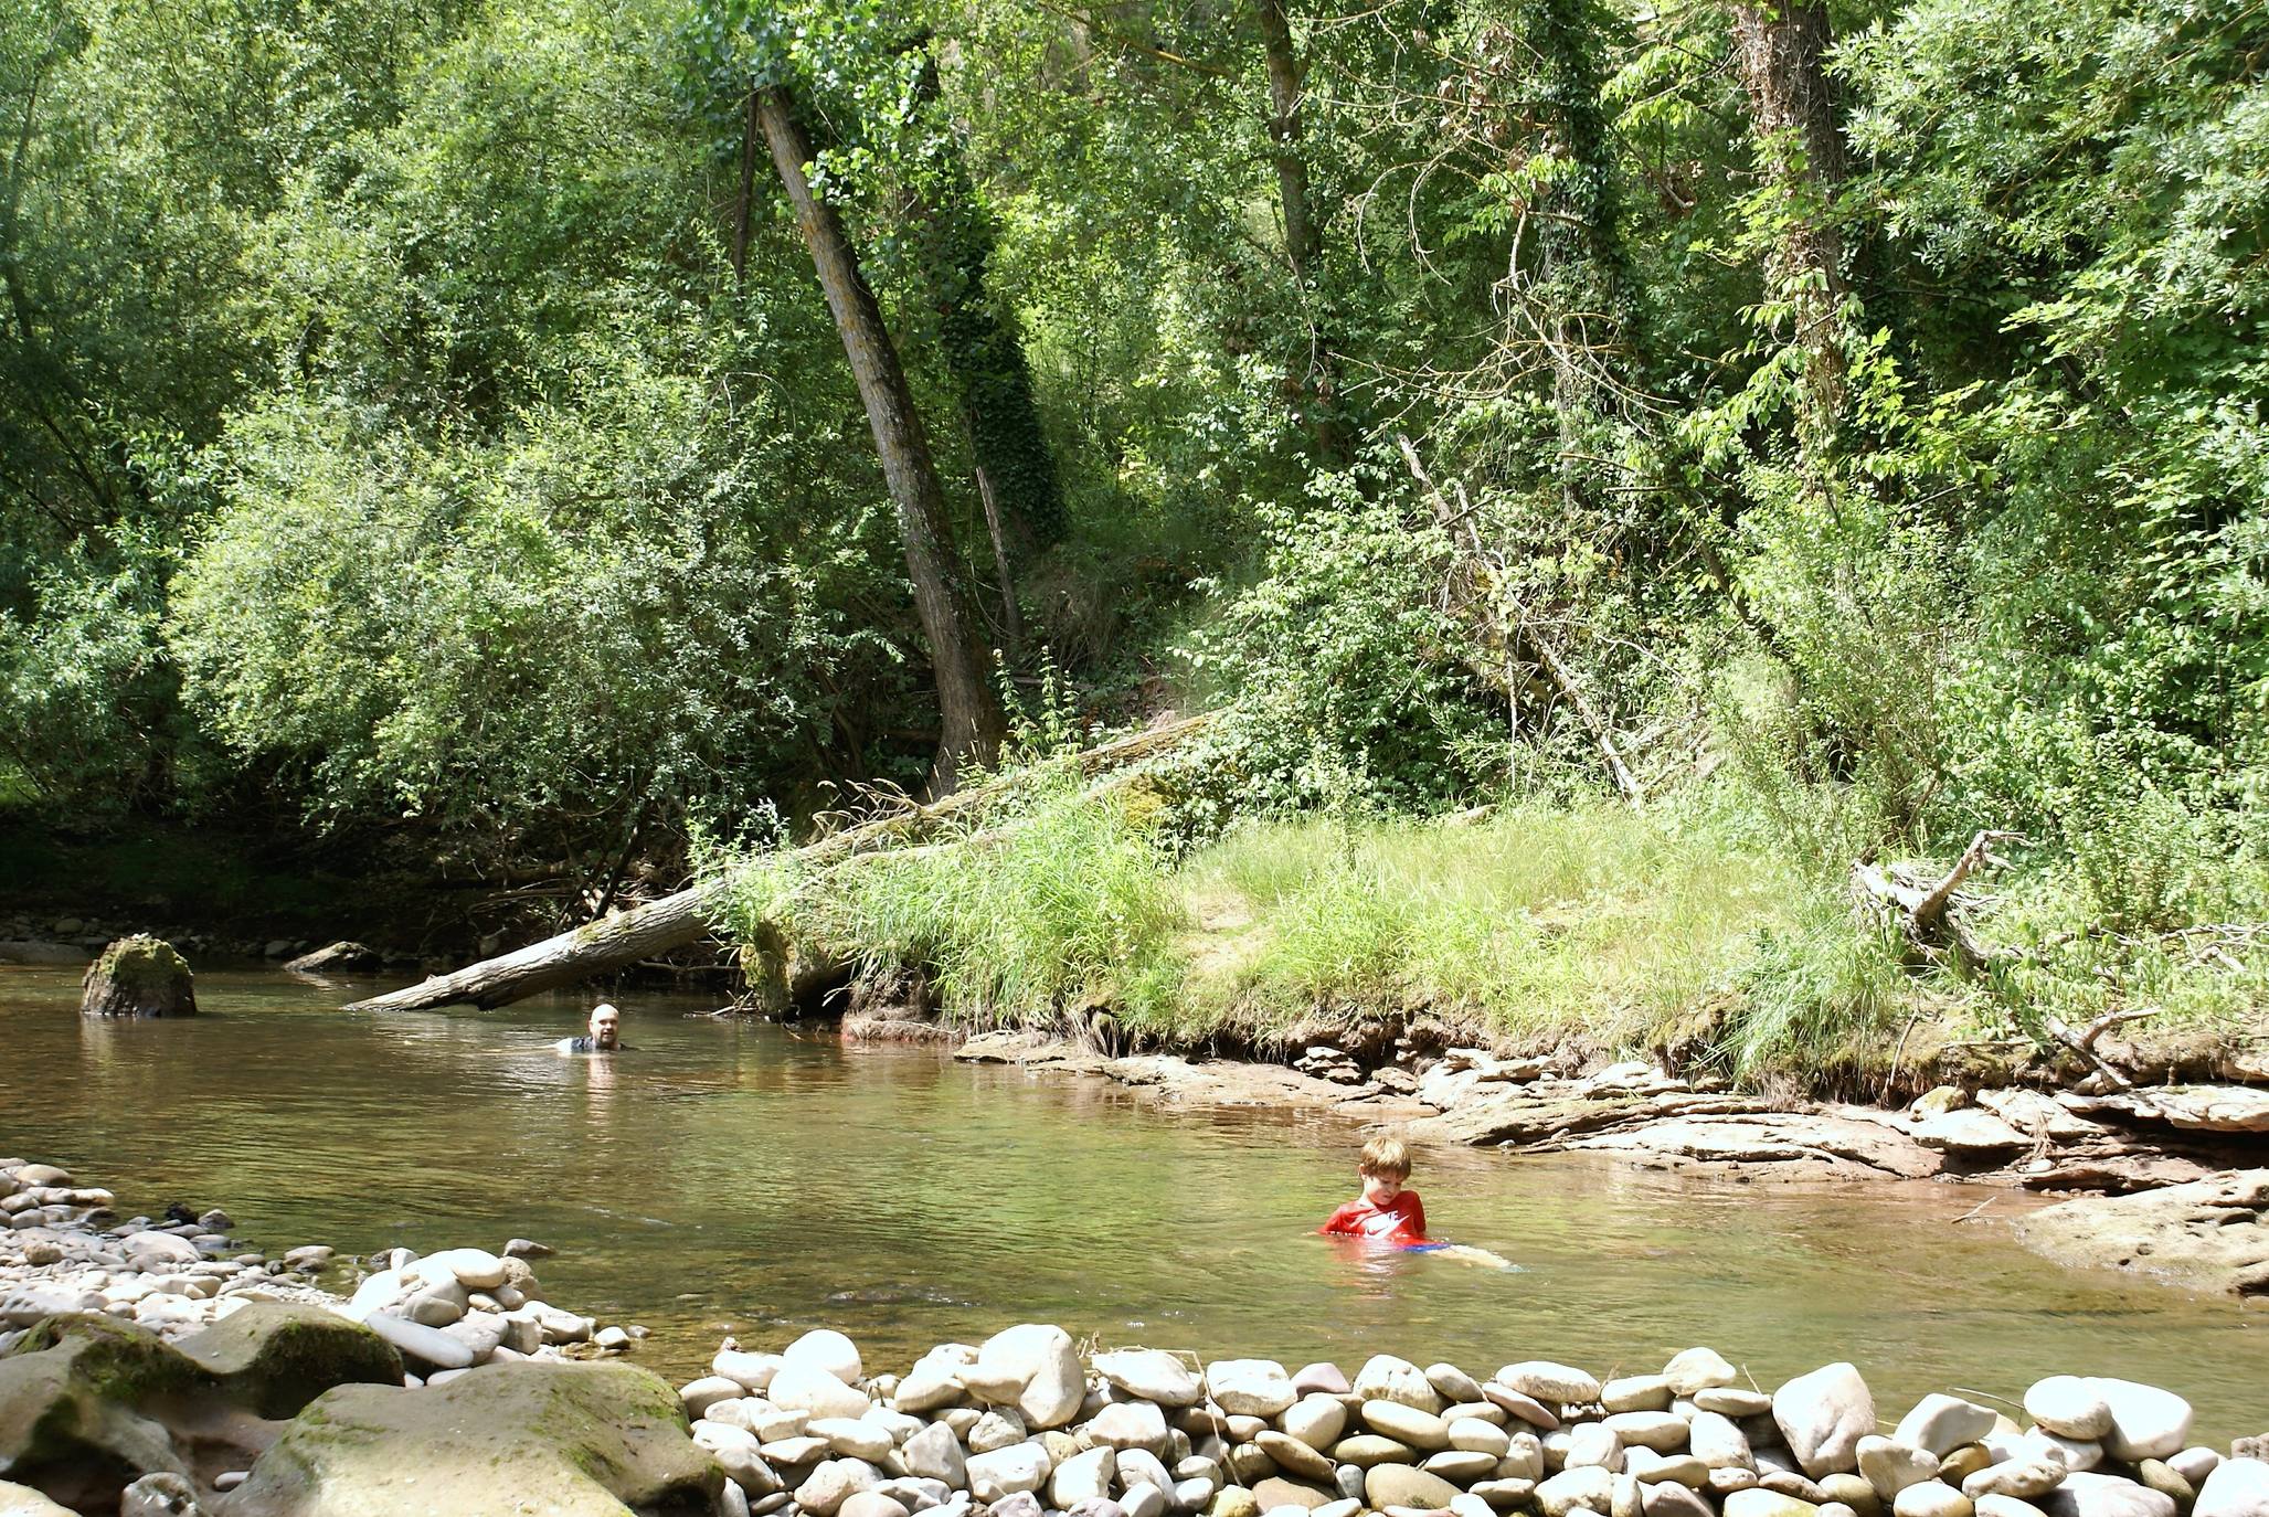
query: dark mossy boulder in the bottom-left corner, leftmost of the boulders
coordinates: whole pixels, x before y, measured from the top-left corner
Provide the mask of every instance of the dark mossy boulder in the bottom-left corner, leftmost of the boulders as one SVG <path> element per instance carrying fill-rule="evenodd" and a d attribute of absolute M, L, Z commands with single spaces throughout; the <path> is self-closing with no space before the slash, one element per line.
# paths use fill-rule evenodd
<path fill-rule="evenodd" d="M 204 1383 L 157 1333 L 113 1317 L 48 1317 L 0 1358 L 0 1478 L 116 1510 L 136 1476 L 188 1472 L 152 1413 Z"/>

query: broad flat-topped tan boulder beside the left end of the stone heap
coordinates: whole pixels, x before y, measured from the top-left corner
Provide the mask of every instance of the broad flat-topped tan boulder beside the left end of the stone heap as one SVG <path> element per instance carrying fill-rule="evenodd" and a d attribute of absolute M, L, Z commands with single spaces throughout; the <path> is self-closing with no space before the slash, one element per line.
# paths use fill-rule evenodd
<path fill-rule="evenodd" d="M 252 1465 L 229 1517 L 710 1517 L 724 1472 L 678 1392 L 622 1363 L 497 1363 L 447 1385 L 340 1385 Z"/>

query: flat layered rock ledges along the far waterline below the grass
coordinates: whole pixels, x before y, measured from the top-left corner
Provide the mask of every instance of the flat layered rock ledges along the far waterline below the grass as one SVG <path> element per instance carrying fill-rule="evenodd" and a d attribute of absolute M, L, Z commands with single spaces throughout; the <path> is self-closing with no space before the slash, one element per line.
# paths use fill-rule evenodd
<path fill-rule="evenodd" d="M 901 1025 L 846 1023 L 846 1036 L 901 1036 Z M 1865 1107 L 1770 1100 L 1640 1061 L 1575 1073 L 1459 1045 L 1366 1066 L 1316 1043 L 1293 1063 L 1255 1063 L 982 1032 L 955 1057 L 1112 1079 L 1162 1107 L 1330 1111 L 1418 1141 L 1595 1152 L 1743 1184 L 1958 1179 L 2072 1193 L 2017 1236 L 2072 1265 L 2269 1295 L 2269 1088 L 2258 1086 L 1938 1086 L 1906 1107 Z"/>

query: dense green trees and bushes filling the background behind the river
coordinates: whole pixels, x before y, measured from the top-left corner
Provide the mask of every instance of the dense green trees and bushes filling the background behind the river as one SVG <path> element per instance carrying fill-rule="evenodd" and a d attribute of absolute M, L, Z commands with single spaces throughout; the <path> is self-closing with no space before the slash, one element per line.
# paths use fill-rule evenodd
<path fill-rule="evenodd" d="M 1189 825 L 2260 850 L 2253 0 L 32 0 L 0 791 L 601 878 L 985 757 L 767 98 L 980 683 L 1237 703 Z"/>

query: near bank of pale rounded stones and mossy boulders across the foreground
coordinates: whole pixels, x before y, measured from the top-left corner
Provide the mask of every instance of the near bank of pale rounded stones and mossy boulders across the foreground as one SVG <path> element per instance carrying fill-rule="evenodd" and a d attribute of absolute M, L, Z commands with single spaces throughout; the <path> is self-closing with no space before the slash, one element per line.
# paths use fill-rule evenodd
<path fill-rule="evenodd" d="M 2181 1395 L 2119 1379 L 1892 1419 L 1849 1363 L 1770 1390 L 1713 1349 L 1348 1374 L 1026 1322 L 905 1370 L 830 1329 L 726 1340 L 672 1392 L 576 1363 L 606 1331 L 533 1297 L 526 1245 L 370 1261 L 343 1299 L 322 1247 L 102 1227 L 107 1193 L 20 1161 L 0 1184 L 29 1197 L 0 1231 L 7 1517 L 2269 1517 L 2262 1440 L 2205 1447 Z"/>

